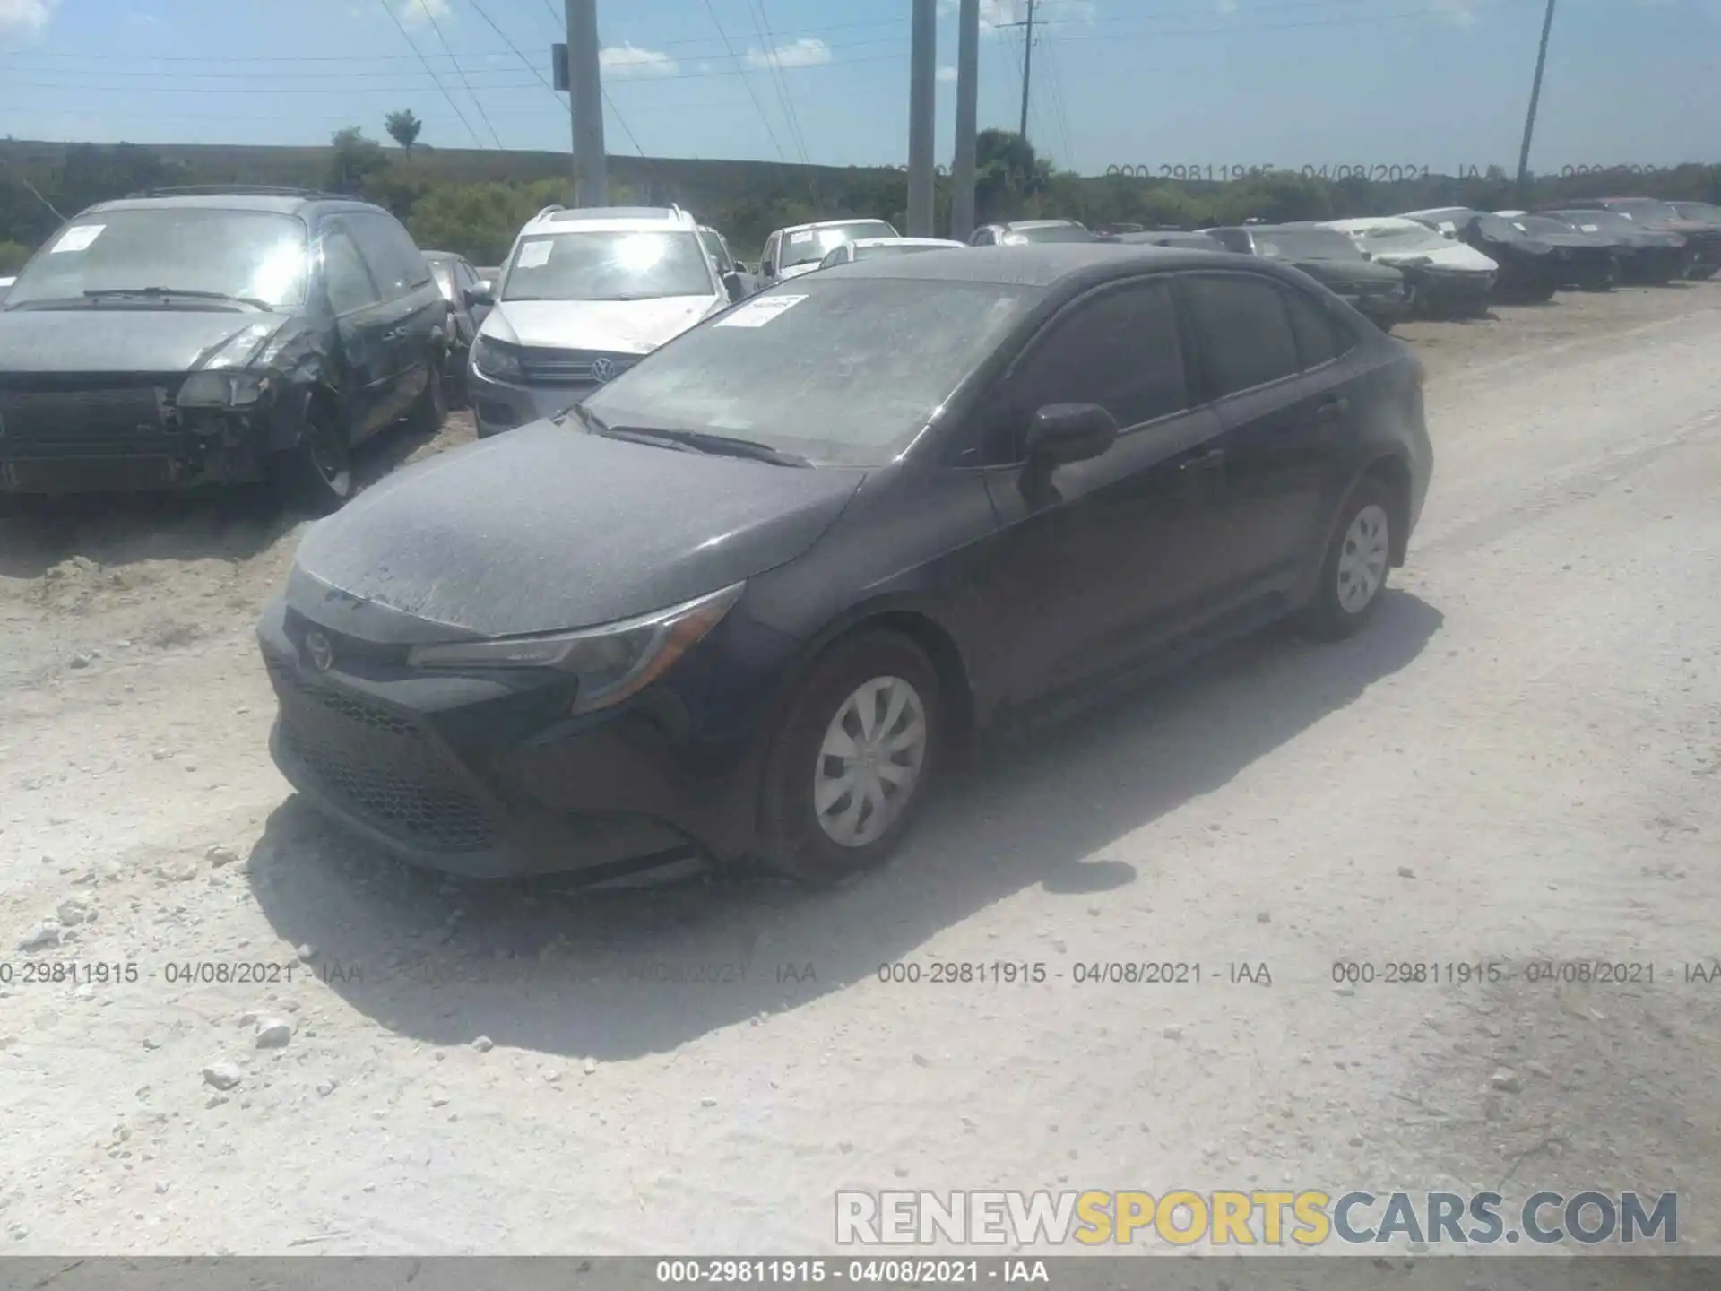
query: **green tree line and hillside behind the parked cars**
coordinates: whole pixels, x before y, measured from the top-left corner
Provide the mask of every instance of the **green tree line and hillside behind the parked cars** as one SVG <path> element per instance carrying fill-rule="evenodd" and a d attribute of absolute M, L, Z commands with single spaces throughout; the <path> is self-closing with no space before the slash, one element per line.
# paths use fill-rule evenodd
<path fill-rule="evenodd" d="M 391 112 L 384 146 L 358 126 L 327 148 L 141 145 L 41 145 L 0 141 L 0 274 L 15 269 L 84 207 L 177 184 L 294 184 L 360 196 L 387 207 L 423 248 L 458 251 L 477 265 L 503 260 L 520 225 L 551 203 L 571 203 L 566 155 L 477 153 L 420 143 L 422 122 Z M 1246 219 L 1330 220 L 1391 215 L 1427 207 L 1537 207 L 1576 196 L 1632 191 L 1721 201 L 1721 165 L 1681 165 L 1650 174 L 1539 176 L 1520 193 L 1499 167 L 1485 174 L 1372 182 L 1277 170 L 1215 181 L 1079 176 L 1041 157 L 1014 131 L 981 131 L 974 205 L 981 222 L 1077 219 L 1089 227 L 1200 227 Z M 888 167 L 802 167 L 614 157 L 614 205 L 676 205 L 728 236 L 754 258 L 771 229 L 816 219 L 867 215 L 907 222 L 907 176 Z M 950 181 L 940 176 L 936 224 L 950 222 Z"/>

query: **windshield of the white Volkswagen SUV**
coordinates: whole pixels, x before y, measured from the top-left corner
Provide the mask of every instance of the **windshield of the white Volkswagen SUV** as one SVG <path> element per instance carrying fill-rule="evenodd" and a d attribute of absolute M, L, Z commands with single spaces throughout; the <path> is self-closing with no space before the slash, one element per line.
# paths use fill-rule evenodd
<path fill-rule="evenodd" d="M 523 238 L 503 300 L 714 296 L 699 234 L 552 232 Z"/>

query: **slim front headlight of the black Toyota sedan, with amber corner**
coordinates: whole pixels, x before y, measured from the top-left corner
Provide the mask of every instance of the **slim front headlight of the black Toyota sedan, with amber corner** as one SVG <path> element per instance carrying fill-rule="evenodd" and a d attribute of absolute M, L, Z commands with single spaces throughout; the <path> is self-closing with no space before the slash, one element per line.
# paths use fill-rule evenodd
<path fill-rule="evenodd" d="M 663 676 L 740 601 L 745 582 L 620 623 L 544 637 L 418 646 L 413 668 L 552 668 L 580 678 L 570 713 L 620 704 Z"/>

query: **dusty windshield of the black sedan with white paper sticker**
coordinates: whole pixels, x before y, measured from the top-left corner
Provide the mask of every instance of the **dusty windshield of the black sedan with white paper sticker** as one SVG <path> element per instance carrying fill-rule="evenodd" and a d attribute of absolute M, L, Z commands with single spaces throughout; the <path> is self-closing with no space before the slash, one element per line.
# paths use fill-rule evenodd
<path fill-rule="evenodd" d="M 1041 289 L 811 275 L 683 332 L 585 401 L 611 427 L 890 461 Z"/>

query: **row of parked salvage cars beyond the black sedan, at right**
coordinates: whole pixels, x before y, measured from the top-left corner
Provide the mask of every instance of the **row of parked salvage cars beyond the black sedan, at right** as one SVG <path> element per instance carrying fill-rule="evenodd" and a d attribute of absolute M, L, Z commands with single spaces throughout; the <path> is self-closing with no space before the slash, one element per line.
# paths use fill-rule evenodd
<path fill-rule="evenodd" d="M 1656 198 L 1108 236 L 1289 262 L 1387 329 L 1411 315 L 1477 317 L 1490 300 L 1545 301 L 1556 291 L 1709 279 L 1721 269 L 1721 207 Z"/>

